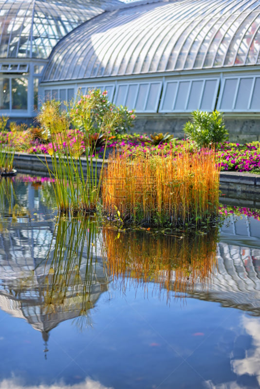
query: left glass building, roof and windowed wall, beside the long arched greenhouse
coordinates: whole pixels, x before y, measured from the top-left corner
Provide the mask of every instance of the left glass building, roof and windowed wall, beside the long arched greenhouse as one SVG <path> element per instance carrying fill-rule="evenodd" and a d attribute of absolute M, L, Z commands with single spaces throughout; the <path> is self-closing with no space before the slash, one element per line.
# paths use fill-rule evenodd
<path fill-rule="evenodd" d="M 56 43 L 75 27 L 118 3 L 0 0 L 0 115 L 35 116 L 38 83 Z"/>

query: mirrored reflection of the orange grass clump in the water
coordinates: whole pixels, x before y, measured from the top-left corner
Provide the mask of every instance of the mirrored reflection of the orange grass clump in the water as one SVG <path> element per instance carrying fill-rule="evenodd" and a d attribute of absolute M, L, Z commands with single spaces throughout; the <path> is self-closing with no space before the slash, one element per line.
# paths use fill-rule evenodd
<path fill-rule="evenodd" d="M 218 229 L 184 237 L 147 231 L 118 231 L 104 227 L 108 274 L 123 291 L 154 282 L 167 292 L 191 292 L 211 282 L 216 264 Z M 168 297 L 169 294 L 168 294 Z"/>

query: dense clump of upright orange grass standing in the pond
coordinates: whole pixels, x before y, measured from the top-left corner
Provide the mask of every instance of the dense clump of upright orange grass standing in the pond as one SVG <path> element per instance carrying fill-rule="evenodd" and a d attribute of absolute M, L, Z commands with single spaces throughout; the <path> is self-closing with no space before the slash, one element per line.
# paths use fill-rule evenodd
<path fill-rule="evenodd" d="M 144 225 L 199 224 L 218 214 L 219 168 L 214 150 L 167 156 L 113 155 L 102 200 L 111 218 Z"/>

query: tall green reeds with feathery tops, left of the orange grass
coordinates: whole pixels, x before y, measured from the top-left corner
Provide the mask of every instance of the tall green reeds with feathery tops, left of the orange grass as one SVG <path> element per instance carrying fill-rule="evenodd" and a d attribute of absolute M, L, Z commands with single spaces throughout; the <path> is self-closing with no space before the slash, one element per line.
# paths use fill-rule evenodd
<path fill-rule="evenodd" d="M 48 101 L 38 115 L 40 124 L 47 127 L 50 133 L 52 147 L 48 153 L 52 166 L 46 158 L 45 161 L 50 176 L 55 177 L 56 203 L 61 212 L 92 212 L 96 208 L 107 137 L 100 166 L 96 143 L 91 139 L 96 130 L 93 128 L 94 115 L 93 102 L 86 99 L 86 96 L 81 97 L 80 103 L 74 102 L 72 107 L 68 108 L 68 113 L 61 112 L 57 102 Z M 116 114 L 108 112 L 99 128 L 100 133 L 108 133 L 116 122 Z M 69 130 L 70 123 L 73 128 Z M 83 153 L 85 157 L 82 156 Z"/>

